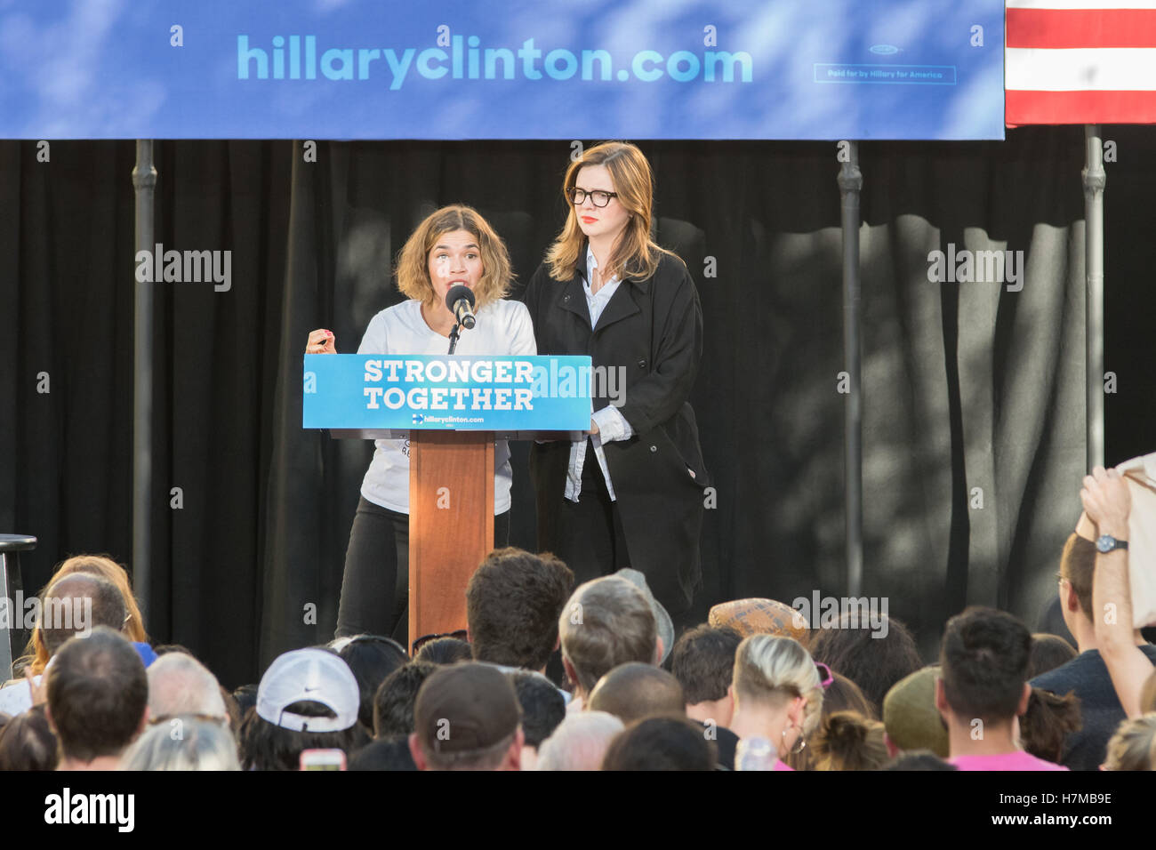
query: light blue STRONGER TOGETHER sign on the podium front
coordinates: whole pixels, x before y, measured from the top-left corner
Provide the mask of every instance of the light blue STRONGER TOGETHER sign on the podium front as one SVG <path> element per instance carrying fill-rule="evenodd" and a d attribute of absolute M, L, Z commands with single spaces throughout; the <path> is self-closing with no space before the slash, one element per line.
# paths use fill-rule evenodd
<path fill-rule="evenodd" d="M 581 431 L 603 377 L 590 357 L 306 354 L 302 426 Z"/>

